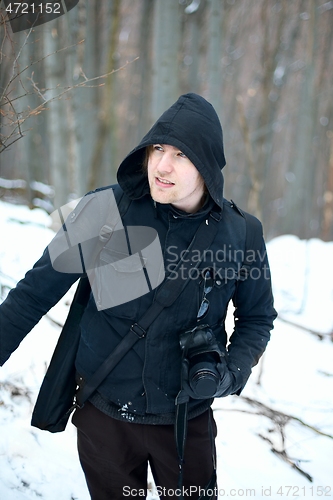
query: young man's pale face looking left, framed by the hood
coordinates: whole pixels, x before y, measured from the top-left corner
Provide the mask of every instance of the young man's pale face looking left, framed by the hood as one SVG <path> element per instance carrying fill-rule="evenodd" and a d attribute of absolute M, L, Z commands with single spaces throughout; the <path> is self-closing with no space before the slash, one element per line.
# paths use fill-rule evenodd
<path fill-rule="evenodd" d="M 148 157 L 148 182 L 153 200 L 194 213 L 202 206 L 205 185 L 193 163 L 179 149 L 154 144 Z"/>

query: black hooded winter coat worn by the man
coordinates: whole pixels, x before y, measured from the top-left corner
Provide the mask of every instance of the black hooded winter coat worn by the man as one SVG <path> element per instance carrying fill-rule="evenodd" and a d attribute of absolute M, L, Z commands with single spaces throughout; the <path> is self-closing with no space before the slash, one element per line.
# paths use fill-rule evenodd
<path fill-rule="evenodd" d="M 142 163 L 145 147 L 154 143 L 178 147 L 203 176 L 209 194 L 204 207 L 197 213 L 184 213 L 171 205 L 156 204 L 151 199 Z M 217 115 L 203 98 L 188 94 L 162 115 L 119 167 L 118 182 L 132 200 L 123 224 L 125 227 L 147 226 L 157 232 L 166 275 L 172 272 L 181 252 L 189 245 L 201 221 L 208 218 L 210 210 L 222 210 L 218 234 L 176 303 L 162 311 L 150 326 L 146 338 L 126 354 L 98 389 L 105 400 L 119 409 L 126 408 L 133 415 L 133 421 L 135 415 L 174 413 L 175 397 L 180 389 L 179 334 L 197 324 L 204 269 L 211 268 L 215 279 L 209 293 L 208 314 L 203 321 L 210 325 L 223 345 L 227 345 L 228 337 L 224 327 L 227 307 L 230 301 L 235 306 L 235 328 L 228 352 L 229 360 L 238 368 L 242 387 L 269 340 L 276 313 L 265 244 L 262 241 L 260 252 L 253 256 L 255 262 L 251 276 L 246 281 L 238 281 L 245 252 L 245 220 L 223 199 L 221 168 L 224 164 L 222 130 Z M 103 195 L 107 194 L 106 188 Z M 106 219 L 98 195 L 91 196 L 89 203 L 84 198 L 66 224 L 78 225 L 84 232 L 87 221 L 91 224 L 93 220 L 98 234 Z M 71 259 L 69 252 L 69 271 Z M 0 306 L 1 364 L 85 269 L 73 264 L 73 271 L 55 270 L 46 249 L 34 268 L 10 292 Z M 125 272 L 132 271 L 122 266 L 116 269 L 117 278 L 112 283 L 115 290 Z M 157 289 L 103 310 L 97 308 L 96 297 L 91 294 L 81 321 L 82 335 L 76 360 L 80 375 L 89 378 L 95 372 L 133 322 L 148 309 Z M 194 414 L 198 408 L 201 411 L 210 403 L 191 400 L 190 413 Z"/>

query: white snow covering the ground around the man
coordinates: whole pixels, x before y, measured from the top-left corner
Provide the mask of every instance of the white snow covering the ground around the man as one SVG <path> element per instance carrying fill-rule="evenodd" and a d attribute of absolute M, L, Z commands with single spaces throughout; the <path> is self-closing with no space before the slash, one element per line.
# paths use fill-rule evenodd
<path fill-rule="evenodd" d="M 3 295 L 52 238 L 49 224 L 39 209 L 0 202 Z M 219 498 L 333 498 L 333 243 L 286 235 L 268 254 L 281 319 L 242 396 L 214 402 Z M 0 368 L 0 500 L 89 499 L 75 428 L 53 435 L 30 426 L 59 334 L 52 319 L 63 322 L 72 294 Z"/>

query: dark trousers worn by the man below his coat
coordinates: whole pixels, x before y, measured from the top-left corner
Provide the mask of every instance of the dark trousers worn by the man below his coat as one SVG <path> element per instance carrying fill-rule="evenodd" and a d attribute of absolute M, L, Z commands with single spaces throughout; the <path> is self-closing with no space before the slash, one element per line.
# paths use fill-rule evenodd
<path fill-rule="evenodd" d="M 185 498 L 199 498 L 213 473 L 209 413 L 189 421 L 185 448 Z M 92 404 L 74 413 L 78 452 L 92 500 L 145 498 L 148 462 L 160 498 L 179 497 L 178 456 L 173 425 L 115 420 Z M 212 430 L 216 424 L 211 415 Z M 201 488 L 201 490 L 200 490 Z"/>

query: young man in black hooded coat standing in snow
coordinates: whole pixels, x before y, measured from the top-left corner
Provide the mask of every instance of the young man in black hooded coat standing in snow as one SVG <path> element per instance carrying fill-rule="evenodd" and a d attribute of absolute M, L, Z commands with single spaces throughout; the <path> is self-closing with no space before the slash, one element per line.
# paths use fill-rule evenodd
<path fill-rule="evenodd" d="M 258 253 L 256 273 L 240 280 L 239 270 L 249 250 L 246 222 L 237 207 L 223 198 L 224 165 L 222 128 L 213 107 L 201 96 L 187 94 L 157 120 L 118 169 L 118 183 L 130 200 L 122 217 L 128 247 L 133 243 L 129 228 L 152 228 L 162 249 L 166 278 L 179 278 L 183 264 L 193 265 L 196 272 L 188 273 L 177 300 L 160 312 L 146 336 L 74 413 L 80 461 L 93 500 L 145 494 L 148 463 L 161 498 L 184 492 L 198 498 L 214 473 L 213 398 L 240 394 L 269 340 L 276 313 L 265 244 L 261 240 L 260 251 L 253 252 Z M 110 192 L 106 188 L 99 194 L 105 198 Z M 68 219 L 81 241 L 88 238 L 83 235 L 88 226 L 94 225 L 98 233 L 105 224 L 106 210 L 98 203 L 95 194 L 91 201 L 88 195 Z M 213 222 L 217 229 L 209 248 L 200 258 L 194 251 L 188 254 L 199 227 Z M 144 261 L 139 252 L 141 267 L 139 261 L 121 265 L 125 259 L 117 239 L 112 236 L 110 241 L 114 247 L 110 250 L 106 245 L 100 252 L 105 266 L 94 270 L 98 284 L 92 287 L 80 325 L 76 369 L 85 380 L 154 303 L 163 286 L 157 279 L 149 290 L 113 305 L 121 283 L 134 284 L 135 275 L 143 270 L 147 275 L 151 259 Z M 0 307 L 1 364 L 85 272 L 74 264 L 71 268 L 70 256 L 70 269 L 68 265 L 65 271 L 61 266 L 57 269 L 52 252 L 59 253 L 50 245 Z M 112 279 L 105 278 L 106 267 L 112 269 Z M 130 275 L 129 281 L 125 275 Z M 100 295 L 104 293 L 103 305 Z M 235 328 L 226 351 L 224 320 L 230 301 L 235 306 Z M 188 429 L 185 455 L 179 457 L 174 425 L 176 408 L 184 403 Z M 176 425 L 176 435 L 178 431 Z M 183 490 L 177 490 L 181 484 Z M 215 498 L 216 492 L 202 496 L 208 497 Z"/>

